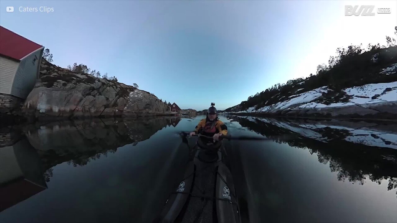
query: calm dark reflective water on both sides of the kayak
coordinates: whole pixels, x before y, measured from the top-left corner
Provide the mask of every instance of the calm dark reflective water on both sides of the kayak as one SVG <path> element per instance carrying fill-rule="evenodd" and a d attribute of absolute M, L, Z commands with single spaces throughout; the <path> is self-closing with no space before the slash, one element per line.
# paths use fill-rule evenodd
<path fill-rule="evenodd" d="M 0 222 L 152 222 L 199 119 L 93 120 L 2 129 Z M 392 123 L 222 116 L 245 222 L 397 222 Z M 294 134 L 288 142 L 277 136 Z"/>

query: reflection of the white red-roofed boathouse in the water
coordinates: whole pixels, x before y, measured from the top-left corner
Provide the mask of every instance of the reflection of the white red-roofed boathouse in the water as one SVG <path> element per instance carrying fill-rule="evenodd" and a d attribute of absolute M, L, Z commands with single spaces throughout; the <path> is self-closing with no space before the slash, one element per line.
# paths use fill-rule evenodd
<path fill-rule="evenodd" d="M 0 211 L 47 188 L 39 154 L 27 139 L 0 148 Z"/>

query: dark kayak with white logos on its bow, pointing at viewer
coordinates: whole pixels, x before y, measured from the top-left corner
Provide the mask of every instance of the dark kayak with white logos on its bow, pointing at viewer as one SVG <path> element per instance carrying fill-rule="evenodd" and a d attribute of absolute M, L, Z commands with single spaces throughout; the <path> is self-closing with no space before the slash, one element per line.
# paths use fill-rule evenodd
<path fill-rule="evenodd" d="M 198 135 L 183 178 L 177 181 L 155 222 L 240 223 L 240 211 L 222 140 L 206 144 Z M 212 139 L 212 137 L 210 137 Z M 188 142 L 185 141 L 187 146 Z"/>

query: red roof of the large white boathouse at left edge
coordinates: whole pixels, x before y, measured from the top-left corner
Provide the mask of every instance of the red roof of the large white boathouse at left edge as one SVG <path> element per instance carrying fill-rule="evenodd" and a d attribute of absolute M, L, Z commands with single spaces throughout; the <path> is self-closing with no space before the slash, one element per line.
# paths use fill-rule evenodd
<path fill-rule="evenodd" d="M 40 48 L 39 44 L 0 26 L 0 54 L 21 60 Z"/>

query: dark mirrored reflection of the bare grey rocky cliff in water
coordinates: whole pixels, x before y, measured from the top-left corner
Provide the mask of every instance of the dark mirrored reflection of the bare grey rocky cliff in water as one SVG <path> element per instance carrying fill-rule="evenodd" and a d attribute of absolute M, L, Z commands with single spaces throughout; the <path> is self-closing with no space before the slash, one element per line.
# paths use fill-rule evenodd
<path fill-rule="evenodd" d="M 93 119 L 30 125 L 25 128 L 29 142 L 47 169 L 67 161 L 86 165 L 114 153 L 117 148 L 150 138 L 167 125 L 164 117 L 141 119 Z M 52 173 L 46 172 L 46 180 Z"/>

